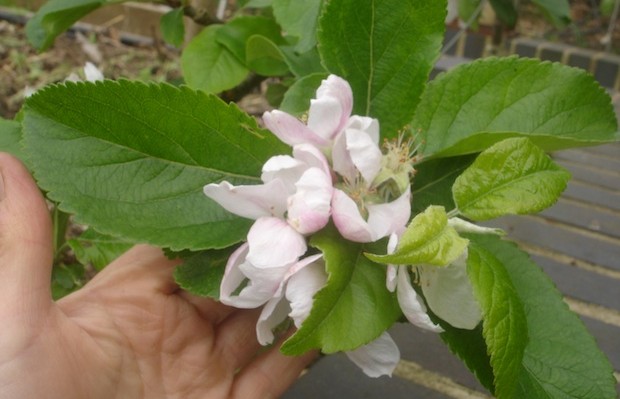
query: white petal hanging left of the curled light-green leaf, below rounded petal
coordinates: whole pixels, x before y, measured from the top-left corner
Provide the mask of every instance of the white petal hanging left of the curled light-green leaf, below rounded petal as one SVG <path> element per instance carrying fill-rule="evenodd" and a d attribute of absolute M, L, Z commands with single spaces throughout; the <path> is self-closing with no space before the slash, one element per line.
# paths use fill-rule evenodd
<path fill-rule="evenodd" d="M 286 299 L 290 302 L 291 313 L 297 328 L 310 315 L 314 294 L 327 283 L 325 263 L 319 260 L 322 255 L 314 257 L 305 267 L 299 268 L 289 279 L 286 285 Z"/>

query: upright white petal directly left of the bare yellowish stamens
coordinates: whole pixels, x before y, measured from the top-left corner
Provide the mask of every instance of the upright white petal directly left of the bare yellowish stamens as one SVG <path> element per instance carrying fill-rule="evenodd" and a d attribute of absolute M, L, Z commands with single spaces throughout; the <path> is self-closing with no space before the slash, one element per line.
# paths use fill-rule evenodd
<path fill-rule="evenodd" d="M 381 170 L 381 149 L 373 138 L 363 130 L 345 130 L 347 151 L 351 162 L 370 185 Z"/>

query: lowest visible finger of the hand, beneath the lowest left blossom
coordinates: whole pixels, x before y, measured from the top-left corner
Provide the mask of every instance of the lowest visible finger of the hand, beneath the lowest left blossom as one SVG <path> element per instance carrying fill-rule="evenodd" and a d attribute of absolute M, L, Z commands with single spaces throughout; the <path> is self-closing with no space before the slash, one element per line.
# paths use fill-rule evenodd
<path fill-rule="evenodd" d="M 233 398 L 278 398 L 296 380 L 301 372 L 318 356 L 311 351 L 301 356 L 280 353 L 280 345 L 256 357 L 236 377 Z"/>

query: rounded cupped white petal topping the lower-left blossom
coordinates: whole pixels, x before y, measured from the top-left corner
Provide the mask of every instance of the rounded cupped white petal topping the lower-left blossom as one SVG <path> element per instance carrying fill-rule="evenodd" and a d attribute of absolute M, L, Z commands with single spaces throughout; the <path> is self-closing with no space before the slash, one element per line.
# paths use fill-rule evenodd
<path fill-rule="evenodd" d="M 247 260 L 256 268 L 292 265 L 308 247 L 305 238 L 282 219 L 263 217 L 248 232 Z"/>

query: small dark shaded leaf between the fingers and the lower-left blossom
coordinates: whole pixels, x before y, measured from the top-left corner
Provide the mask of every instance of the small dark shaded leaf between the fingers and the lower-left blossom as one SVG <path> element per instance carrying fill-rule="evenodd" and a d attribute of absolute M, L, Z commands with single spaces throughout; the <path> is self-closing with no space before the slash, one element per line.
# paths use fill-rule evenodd
<path fill-rule="evenodd" d="M 209 250 L 192 255 L 174 270 L 174 280 L 191 294 L 219 299 L 226 262 L 234 249 Z"/>

